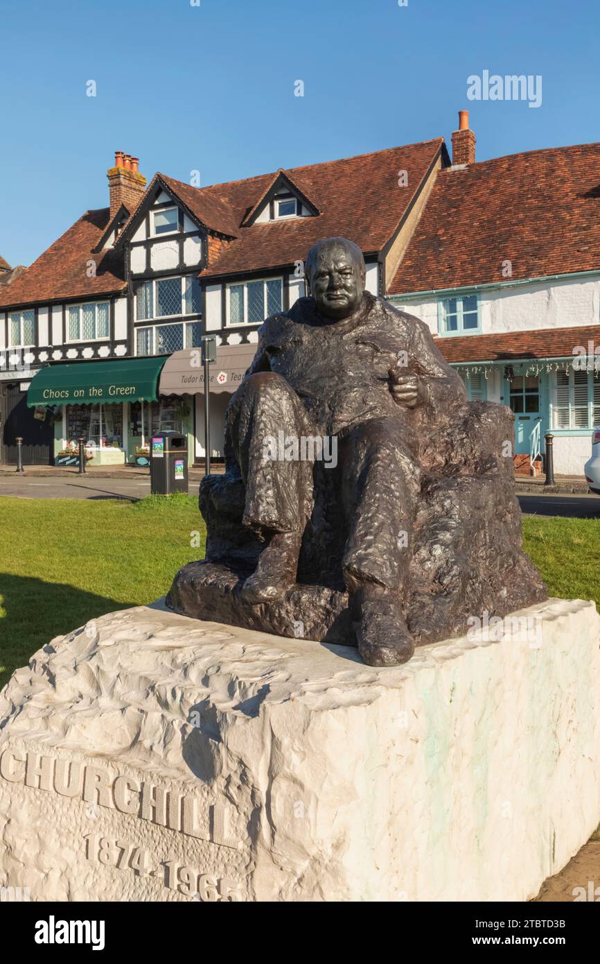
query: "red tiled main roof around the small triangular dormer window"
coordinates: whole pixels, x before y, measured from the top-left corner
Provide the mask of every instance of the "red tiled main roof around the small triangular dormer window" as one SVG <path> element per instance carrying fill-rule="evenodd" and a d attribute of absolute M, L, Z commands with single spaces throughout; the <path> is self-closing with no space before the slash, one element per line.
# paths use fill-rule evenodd
<path fill-rule="evenodd" d="M 276 173 L 191 188 L 224 202 L 233 214 L 239 233 L 239 238 L 223 249 L 200 278 L 293 264 L 303 259 L 316 241 L 331 235 L 350 238 L 365 254 L 381 251 L 418 193 L 442 144 L 443 138 L 435 138 L 339 161 L 291 168 L 285 174 L 322 213 L 290 221 L 239 227 L 257 199 L 264 197 Z M 399 187 L 400 171 L 407 172 L 407 187 Z"/>

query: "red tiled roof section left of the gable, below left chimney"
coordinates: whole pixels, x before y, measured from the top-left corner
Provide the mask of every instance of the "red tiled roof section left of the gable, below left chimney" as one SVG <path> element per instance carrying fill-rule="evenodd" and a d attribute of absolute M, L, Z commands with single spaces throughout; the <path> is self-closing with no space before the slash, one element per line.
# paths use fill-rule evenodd
<path fill-rule="evenodd" d="M 121 253 L 93 254 L 110 217 L 110 208 L 86 213 L 12 284 L 0 287 L 0 307 L 32 305 L 58 298 L 90 298 L 125 288 Z M 95 276 L 88 278 L 88 262 Z"/>

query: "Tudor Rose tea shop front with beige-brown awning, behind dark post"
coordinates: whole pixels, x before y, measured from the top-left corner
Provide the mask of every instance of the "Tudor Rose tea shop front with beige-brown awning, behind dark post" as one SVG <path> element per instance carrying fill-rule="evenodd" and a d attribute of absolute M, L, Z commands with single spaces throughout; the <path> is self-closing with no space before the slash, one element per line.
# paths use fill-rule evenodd
<path fill-rule="evenodd" d="M 209 422 L 211 457 L 223 458 L 225 412 L 256 352 L 256 344 L 218 345 L 217 361 L 210 365 Z M 161 395 L 186 399 L 196 415 L 196 440 L 189 443 L 191 456 L 204 457 L 204 370 L 198 348 L 174 352 L 161 372 Z"/>

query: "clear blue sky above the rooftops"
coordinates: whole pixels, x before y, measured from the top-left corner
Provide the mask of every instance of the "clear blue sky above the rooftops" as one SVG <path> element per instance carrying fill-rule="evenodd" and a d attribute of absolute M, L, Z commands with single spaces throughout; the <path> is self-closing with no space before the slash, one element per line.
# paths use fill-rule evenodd
<path fill-rule="evenodd" d="M 479 160 L 600 141 L 599 28 L 598 0 L 0 0 L 0 254 L 106 206 L 116 149 L 205 185 L 450 144 L 461 108 Z M 541 106 L 467 100 L 483 70 L 541 75 Z"/>

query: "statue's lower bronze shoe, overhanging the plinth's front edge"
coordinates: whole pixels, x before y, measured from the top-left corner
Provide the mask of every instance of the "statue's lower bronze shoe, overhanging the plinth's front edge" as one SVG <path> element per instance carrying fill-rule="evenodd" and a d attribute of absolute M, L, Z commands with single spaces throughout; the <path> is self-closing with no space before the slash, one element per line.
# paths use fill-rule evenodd
<path fill-rule="evenodd" d="M 382 587 L 361 594 L 355 624 L 358 652 L 369 666 L 399 666 L 414 653 L 414 643 L 398 599 Z"/>

